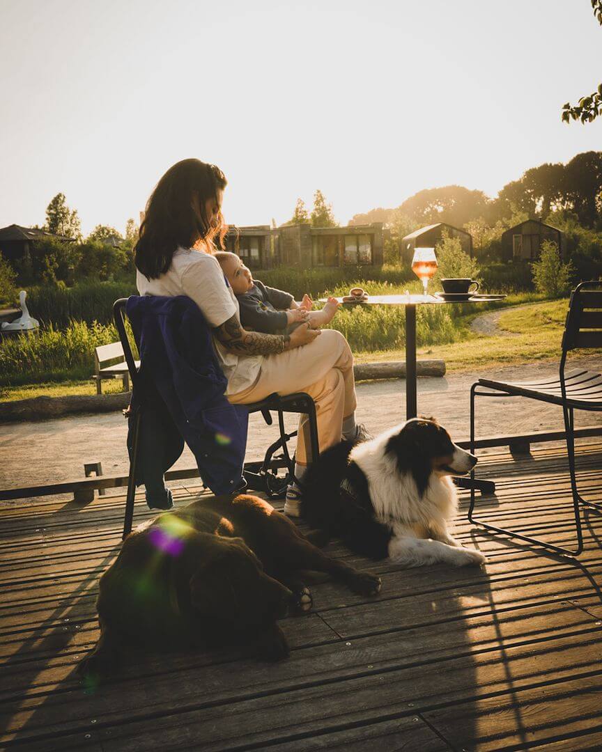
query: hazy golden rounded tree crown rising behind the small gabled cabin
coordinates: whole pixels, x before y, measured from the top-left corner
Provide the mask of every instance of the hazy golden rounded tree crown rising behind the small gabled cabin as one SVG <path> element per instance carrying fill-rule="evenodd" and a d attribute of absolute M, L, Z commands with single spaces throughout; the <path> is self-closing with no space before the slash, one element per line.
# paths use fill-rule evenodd
<path fill-rule="evenodd" d="M 403 202 L 399 211 L 424 225 L 445 222 L 461 227 L 476 217 L 482 217 L 488 204 L 488 197 L 480 190 L 444 186 L 418 191 Z"/>

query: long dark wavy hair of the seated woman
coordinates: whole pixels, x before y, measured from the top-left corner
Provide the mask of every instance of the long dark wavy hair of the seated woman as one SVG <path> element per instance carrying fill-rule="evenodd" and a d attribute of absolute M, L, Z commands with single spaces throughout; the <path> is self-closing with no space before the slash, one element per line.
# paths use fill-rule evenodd
<path fill-rule="evenodd" d="M 205 202 L 217 198 L 227 185 L 220 168 L 200 159 L 182 159 L 155 186 L 150 194 L 135 244 L 135 265 L 147 279 L 164 274 L 178 247 L 192 248 L 199 240 L 208 250 L 214 243 L 223 248 L 228 226 L 219 215 L 217 227 L 205 212 Z"/>

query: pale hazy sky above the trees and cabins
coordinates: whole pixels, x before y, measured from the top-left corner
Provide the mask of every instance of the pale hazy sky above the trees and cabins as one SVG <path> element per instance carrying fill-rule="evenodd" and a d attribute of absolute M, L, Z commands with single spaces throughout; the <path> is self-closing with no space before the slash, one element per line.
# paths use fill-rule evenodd
<path fill-rule="evenodd" d="M 59 191 L 123 232 L 196 156 L 239 225 L 320 188 L 336 218 L 459 183 L 494 196 L 602 148 L 561 123 L 602 80 L 589 0 L 0 0 L 0 226 Z"/>

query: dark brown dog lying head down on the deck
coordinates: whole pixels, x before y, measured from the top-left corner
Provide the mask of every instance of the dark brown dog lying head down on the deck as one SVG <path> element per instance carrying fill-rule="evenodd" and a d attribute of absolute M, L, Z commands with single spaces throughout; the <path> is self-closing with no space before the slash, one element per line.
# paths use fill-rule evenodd
<path fill-rule="evenodd" d="M 354 593 L 380 578 L 322 553 L 283 514 L 240 495 L 193 502 L 139 526 L 100 578 L 101 635 L 79 672 L 106 675 L 132 649 L 252 644 L 265 660 L 288 655 L 276 621 L 312 606 L 303 572 L 326 572 Z"/>

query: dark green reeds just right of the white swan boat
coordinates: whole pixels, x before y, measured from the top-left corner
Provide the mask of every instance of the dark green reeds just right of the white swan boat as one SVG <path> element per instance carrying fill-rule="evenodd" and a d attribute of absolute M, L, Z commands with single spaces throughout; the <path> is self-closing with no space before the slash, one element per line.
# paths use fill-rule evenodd
<path fill-rule="evenodd" d="M 102 324 L 113 320 L 117 298 L 135 295 L 133 277 L 129 282 L 89 282 L 74 287 L 44 285 L 28 291 L 27 304 L 42 326 L 65 329 L 71 321 Z"/>

